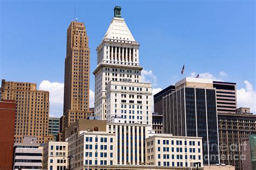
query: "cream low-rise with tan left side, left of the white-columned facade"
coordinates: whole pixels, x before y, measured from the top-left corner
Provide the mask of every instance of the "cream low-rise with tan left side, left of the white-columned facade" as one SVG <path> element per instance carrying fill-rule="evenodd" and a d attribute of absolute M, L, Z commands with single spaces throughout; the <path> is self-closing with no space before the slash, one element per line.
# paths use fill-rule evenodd
<path fill-rule="evenodd" d="M 114 134 L 98 131 L 80 131 L 69 141 L 69 155 L 72 155 L 72 169 L 88 165 L 115 165 L 116 147 Z"/>

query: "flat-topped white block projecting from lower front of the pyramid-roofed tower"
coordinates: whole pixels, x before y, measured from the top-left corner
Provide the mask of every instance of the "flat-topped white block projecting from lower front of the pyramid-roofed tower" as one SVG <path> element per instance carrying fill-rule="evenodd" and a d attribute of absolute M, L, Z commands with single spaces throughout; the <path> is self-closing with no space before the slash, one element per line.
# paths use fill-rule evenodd
<path fill-rule="evenodd" d="M 107 122 L 152 125 L 150 83 L 110 81 L 106 89 Z"/>

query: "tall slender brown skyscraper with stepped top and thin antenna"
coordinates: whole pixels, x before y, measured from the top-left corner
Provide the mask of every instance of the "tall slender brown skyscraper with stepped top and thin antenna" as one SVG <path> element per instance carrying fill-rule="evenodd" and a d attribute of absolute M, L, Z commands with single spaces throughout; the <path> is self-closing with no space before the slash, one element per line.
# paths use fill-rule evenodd
<path fill-rule="evenodd" d="M 65 121 L 61 121 L 65 124 L 60 127 L 68 128 L 78 119 L 92 116 L 89 111 L 89 93 L 90 48 L 85 25 L 81 22 L 71 22 L 66 41 L 63 107 Z"/>

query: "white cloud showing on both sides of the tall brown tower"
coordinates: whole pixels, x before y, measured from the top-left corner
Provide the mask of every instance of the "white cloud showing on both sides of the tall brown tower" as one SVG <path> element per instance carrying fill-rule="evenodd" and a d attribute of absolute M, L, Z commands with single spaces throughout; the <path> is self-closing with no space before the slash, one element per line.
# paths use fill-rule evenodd
<path fill-rule="evenodd" d="M 43 80 L 39 85 L 39 90 L 49 91 L 50 94 L 50 117 L 60 117 L 63 115 L 64 83 L 50 82 Z M 90 90 L 90 108 L 94 107 L 95 94 Z"/>

